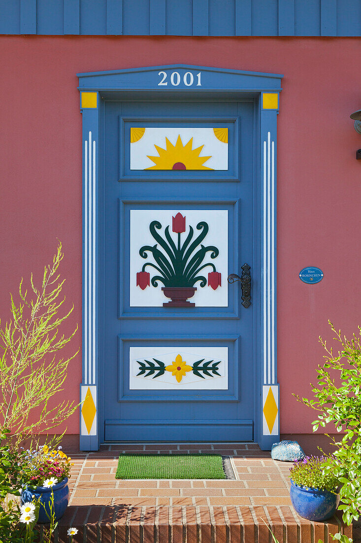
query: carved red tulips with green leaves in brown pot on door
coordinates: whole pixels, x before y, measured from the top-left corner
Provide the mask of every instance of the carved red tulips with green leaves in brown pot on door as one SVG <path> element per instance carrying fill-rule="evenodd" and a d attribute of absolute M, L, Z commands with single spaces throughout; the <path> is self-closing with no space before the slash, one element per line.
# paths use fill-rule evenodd
<path fill-rule="evenodd" d="M 149 226 L 149 231 L 157 243 L 155 245 L 143 245 L 139 249 L 142 258 L 153 257 L 153 261 L 145 262 L 141 271 L 137 273 L 137 286 L 142 290 L 152 284 L 158 286 L 158 281 L 163 283 L 162 291 L 166 298 L 171 301 L 164 302 L 164 307 L 194 307 L 195 304 L 188 301 L 188 298 L 194 296 L 199 283 L 200 287 L 207 285 L 207 277 L 203 275 L 204 269 L 208 268 L 208 285 L 216 290 L 221 286 L 221 274 L 216 267 L 208 260 L 206 255 L 210 252 L 210 258 L 218 256 L 219 250 L 214 245 L 202 245 L 202 241 L 207 236 L 209 225 L 204 220 L 196 226 L 200 231 L 198 236 L 194 236 L 195 231 L 191 225 L 185 238 L 182 240 L 181 234 L 186 232 L 185 216 L 177 213 L 172 217 L 172 231 L 177 234 L 173 239 L 169 232 L 170 225 L 164 229 L 163 235 L 158 230 L 162 229 L 159 220 L 153 220 Z M 157 271 L 150 279 L 150 273 L 146 270 L 151 267 Z M 202 273 L 201 273 L 202 272 Z"/>

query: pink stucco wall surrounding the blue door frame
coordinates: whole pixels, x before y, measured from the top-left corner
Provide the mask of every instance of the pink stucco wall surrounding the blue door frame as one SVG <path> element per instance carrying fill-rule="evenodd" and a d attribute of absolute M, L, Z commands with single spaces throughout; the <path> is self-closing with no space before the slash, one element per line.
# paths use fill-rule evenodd
<path fill-rule="evenodd" d="M 283 73 L 278 118 L 278 368 L 281 432 L 308 433 L 315 418 L 292 392 L 310 393 L 330 318 L 350 333 L 360 305 L 361 107 L 358 39 L 0 36 L 2 322 L 9 291 L 41 278 L 61 239 L 70 327 L 81 323 L 81 115 L 76 73 L 182 62 Z M 298 274 L 318 266 L 307 286 Z M 81 334 L 69 346 L 73 352 Z M 67 397 L 79 399 L 80 355 Z M 68 421 L 79 432 L 79 415 Z"/>

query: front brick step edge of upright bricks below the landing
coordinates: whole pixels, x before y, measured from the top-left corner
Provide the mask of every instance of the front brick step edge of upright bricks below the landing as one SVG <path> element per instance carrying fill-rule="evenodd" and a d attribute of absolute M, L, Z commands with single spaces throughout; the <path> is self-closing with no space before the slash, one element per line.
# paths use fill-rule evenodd
<path fill-rule="evenodd" d="M 268 527 L 280 543 L 331 543 L 339 531 L 352 537 L 339 516 L 309 522 L 288 506 L 69 506 L 55 543 L 68 543 L 70 526 L 79 531 L 74 543 L 270 543 Z"/>

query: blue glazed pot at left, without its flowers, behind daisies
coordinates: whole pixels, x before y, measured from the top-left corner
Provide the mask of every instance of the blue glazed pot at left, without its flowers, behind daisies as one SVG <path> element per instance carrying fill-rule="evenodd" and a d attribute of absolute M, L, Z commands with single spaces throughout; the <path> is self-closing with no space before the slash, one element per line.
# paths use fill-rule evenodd
<path fill-rule="evenodd" d="M 69 503 L 68 478 L 66 477 L 60 483 L 53 487 L 25 487 L 21 493 L 21 502 L 36 502 L 40 498 L 40 509 L 38 522 L 44 524 L 49 522 L 47 514 L 50 516 L 51 490 L 54 492 L 54 513 L 55 520 L 59 520 L 65 513 Z M 35 496 L 33 498 L 33 496 Z"/>

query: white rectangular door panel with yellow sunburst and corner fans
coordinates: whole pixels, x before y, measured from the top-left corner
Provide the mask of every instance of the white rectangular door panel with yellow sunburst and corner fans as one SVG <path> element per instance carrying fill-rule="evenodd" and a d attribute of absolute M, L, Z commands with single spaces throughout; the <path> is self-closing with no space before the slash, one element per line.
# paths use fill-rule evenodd
<path fill-rule="evenodd" d="M 227 128 L 131 128 L 131 169 L 227 170 Z"/>

